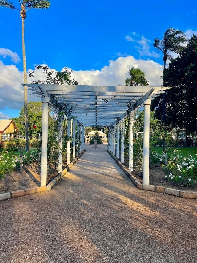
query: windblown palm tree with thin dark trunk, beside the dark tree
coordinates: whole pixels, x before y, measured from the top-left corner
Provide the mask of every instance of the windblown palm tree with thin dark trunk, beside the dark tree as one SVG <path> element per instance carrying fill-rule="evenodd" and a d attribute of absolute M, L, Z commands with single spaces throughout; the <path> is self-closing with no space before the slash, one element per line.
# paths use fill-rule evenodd
<path fill-rule="evenodd" d="M 163 39 L 155 38 L 153 46 L 163 53 L 163 86 L 165 82 L 166 61 L 173 59 L 171 52 L 179 53 L 183 48 L 183 44 L 187 43 L 188 39 L 185 33 L 181 30 L 169 27 L 163 35 Z M 163 126 L 166 119 L 166 96 L 163 94 Z"/>

